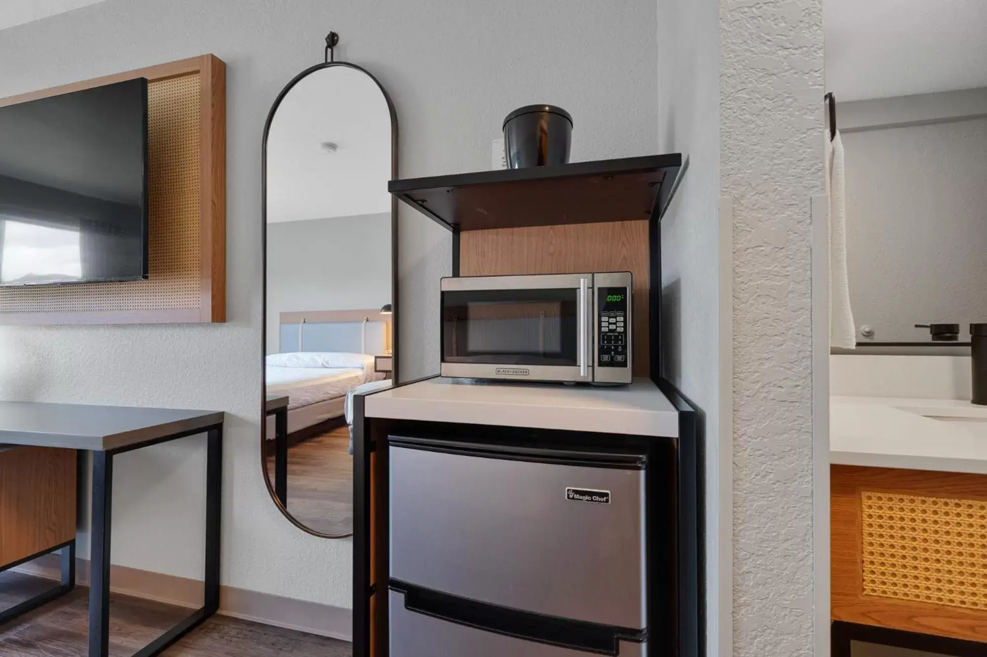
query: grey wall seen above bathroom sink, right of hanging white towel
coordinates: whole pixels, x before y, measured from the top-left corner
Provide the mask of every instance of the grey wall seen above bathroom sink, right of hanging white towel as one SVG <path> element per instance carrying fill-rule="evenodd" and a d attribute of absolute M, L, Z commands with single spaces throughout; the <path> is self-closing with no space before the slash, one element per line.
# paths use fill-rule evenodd
<path fill-rule="evenodd" d="M 914 325 L 987 320 L 987 118 L 848 132 L 843 144 L 857 339 L 928 340 Z"/>

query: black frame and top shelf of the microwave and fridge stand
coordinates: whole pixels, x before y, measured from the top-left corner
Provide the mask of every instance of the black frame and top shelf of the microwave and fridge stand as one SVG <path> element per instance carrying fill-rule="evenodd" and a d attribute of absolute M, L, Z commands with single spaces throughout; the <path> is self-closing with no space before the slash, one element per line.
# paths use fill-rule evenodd
<path fill-rule="evenodd" d="M 675 449 L 675 472 L 664 477 L 674 486 L 650 493 L 661 503 L 674 500 L 676 536 L 663 545 L 676 552 L 676 567 L 664 578 L 649 584 L 656 587 L 652 600 L 662 596 L 661 587 L 674 587 L 671 613 L 657 611 L 649 626 L 649 641 L 656 652 L 677 657 L 701 654 L 703 636 L 702 571 L 703 533 L 699 509 L 703 506 L 699 481 L 702 480 L 703 436 L 697 429 L 696 408 L 682 398 L 662 377 L 661 353 L 661 217 L 668 208 L 682 179 L 688 160 L 679 153 L 652 155 L 598 162 L 576 162 L 555 167 L 535 167 L 486 171 L 452 176 L 434 176 L 391 181 L 388 190 L 452 233 L 452 275 L 459 275 L 460 234 L 496 228 L 526 228 L 646 220 L 648 247 L 648 348 L 651 381 L 679 411 L 679 432 Z M 493 236 L 492 236 L 493 237 Z M 532 238 L 537 239 L 537 238 Z M 585 245 L 580 245 L 584 248 Z M 395 302 L 397 302 L 397 297 Z M 396 383 L 410 386 L 416 381 Z M 388 644 L 389 525 L 387 513 L 388 436 L 412 435 L 405 420 L 366 417 L 364 401 L 371 391 L 353 397 L 353 654 L 369 654 L 372 639 L 378 646 Z M 437 426 L 414 421 L 434 436 Z M 426 426 L 427 425 L 427 426 Z M 506 427 L 501 427 L 506 429 Z M 456 428 L 476 435 L 474 425 Z M 528 431 L 523 429 L 522 431 Z M 547 438 L 537 430 L 538 440 Z M 608 434 L 613 439 L 615 434 Z M 632 437 L 633 439 L 633 437 Z M 648 439 L 647 445 L 656 443 Z M 376 455 L 371 459 L 371 455 Z M 377 476 L 371 473 L 371 464 Z M 371 489 L 376 490 L 373 495 Z M 379 513 L 372 519 L 370 509 L 378 500 Z M 375 532 L 371 531 L 371 523 Z M 665 537 L 667 538 L 667 537 Z M 371 548 L 373 543 L 373 548 Z M 373 581 L 372 573 L 378 573 Z M 376 605 L 371 601 L 376 598 Z M 382 601 L 383 598 L 383 601 Z M 650 612 L 649 612 L 650 614 Z M 660 630 L 659 630 L 660 628 Z"/>

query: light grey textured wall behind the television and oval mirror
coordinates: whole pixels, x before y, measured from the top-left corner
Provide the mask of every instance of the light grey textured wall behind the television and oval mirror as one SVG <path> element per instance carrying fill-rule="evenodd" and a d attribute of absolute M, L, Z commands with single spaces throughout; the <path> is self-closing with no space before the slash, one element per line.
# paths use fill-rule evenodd
<path fill-rule="evenodd" d="M 261 137 L 270 103 L 321 61 L 329 30 L 341 35 L 339 58 L 366 66 L 393 98 L 405 178 L 489 168 L 501 119 L 530 103 L 571 111 L 573 160 L 656 150 L 653 0 L 619 11 L 591 0 L 107 0 L 2 31 L 0 96 L 203 52 L 227 63 L 229 322 L 0 328 L 0 399 L 228 411 L 223 583 L 348 607 L 352 544 L 312 538 L 281 517 L 259 450 Z M 438 370 L 449 238 L 404 208 L 401 231 L 401 358 L 411 378 Z M 121 460 L 115 563 L 199 573 L 199 524 L 186 510 L 198 500 L 192 492 L 173 503 L 199 482 L 196 441 L 156 448 L 174 455 L 168 461 Z"/>

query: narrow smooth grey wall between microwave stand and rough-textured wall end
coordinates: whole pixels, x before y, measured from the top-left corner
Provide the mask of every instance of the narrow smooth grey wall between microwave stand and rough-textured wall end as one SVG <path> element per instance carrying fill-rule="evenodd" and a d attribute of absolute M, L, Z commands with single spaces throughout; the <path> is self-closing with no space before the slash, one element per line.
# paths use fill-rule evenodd
<path fill-rule="evenodd" d="M 726 655 L 729 493 L 722 494 L 722 485 L 729 481 L 722 480 L 721 462 L 728 459 L 732 438 L 721 442 L 729 419 L 724 425 L 720 416 L 721 385 L 727 383 L 721 373 L 729 354 L 720 349 L 721 323 L 728 319 L 721 317 L 720 5 L 718 0 L 657 0 L 657 7 L 658 148 L 688 157 L 688 169 L 661 220 L 662 369 L 701 411 L 707 654 Z"/>

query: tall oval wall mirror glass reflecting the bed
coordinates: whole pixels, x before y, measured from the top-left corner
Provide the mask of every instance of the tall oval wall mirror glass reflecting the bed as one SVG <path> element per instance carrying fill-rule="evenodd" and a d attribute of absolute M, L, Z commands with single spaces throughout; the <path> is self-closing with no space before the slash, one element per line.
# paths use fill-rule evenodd
<path fill-rule="evenodd" d="M 262 466 L 273 503 L 325 538 L 353 531 L 347 393 L 396 375 L 397 130 L 380 84 L 342 62 L 267 117 Z"/>

